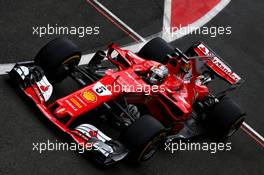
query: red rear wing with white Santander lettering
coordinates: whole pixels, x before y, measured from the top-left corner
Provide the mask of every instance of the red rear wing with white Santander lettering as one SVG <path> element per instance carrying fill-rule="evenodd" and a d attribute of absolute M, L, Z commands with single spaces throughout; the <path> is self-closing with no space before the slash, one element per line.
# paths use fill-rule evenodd
<path fill-rule="evenodd" d="M 229 66 L 218 55 L 216 55 L 204 43 L 198 43 L 193 49 L 199 57 L 204 56 L 208 58 L 205 61 L 207 67 L 231 85 L 238 85 L 244 81 L 237 73 L 232 70 L 231 66 Z"/>

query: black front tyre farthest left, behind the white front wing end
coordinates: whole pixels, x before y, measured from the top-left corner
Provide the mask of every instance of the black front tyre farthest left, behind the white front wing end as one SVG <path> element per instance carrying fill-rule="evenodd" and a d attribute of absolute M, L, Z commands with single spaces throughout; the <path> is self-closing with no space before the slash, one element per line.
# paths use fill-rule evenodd
<path fill-rule="evenodd" d="M 81 52 L 67 38 L 57 38 L 46 44 L 36 55 L 34 62 L 40 66 L 52 83 L 62 81 L 71 69 L 78 65 Z"/>

